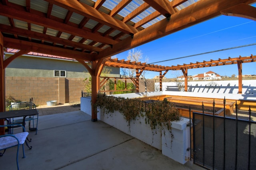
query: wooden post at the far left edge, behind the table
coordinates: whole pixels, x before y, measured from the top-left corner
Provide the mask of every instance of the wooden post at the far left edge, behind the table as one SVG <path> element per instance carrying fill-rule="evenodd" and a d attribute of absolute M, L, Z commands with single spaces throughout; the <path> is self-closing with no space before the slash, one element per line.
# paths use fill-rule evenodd
<path fill-rule="evenodd" d="M 4 37 L 0 33 L 0 111 L 5 111 L 5 74 L 4 74 Z M 4 119 L 0 119 L 4 125 Z M 4 135 L 4 127 L 0 128 L 0 135 Z"/>

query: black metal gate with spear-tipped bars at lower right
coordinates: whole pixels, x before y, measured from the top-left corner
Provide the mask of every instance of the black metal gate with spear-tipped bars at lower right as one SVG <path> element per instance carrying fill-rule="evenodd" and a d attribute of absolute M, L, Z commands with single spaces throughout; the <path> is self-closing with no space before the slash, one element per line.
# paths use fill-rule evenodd
<path fill-rule="evenodd" d="M 214 110 L 214 109 L 213 109 Z M 255 170 L 256 122 L 193 112 L 193 161 L 207 169 Z M 247 115 L 248 115 L 247 113 Z"/>

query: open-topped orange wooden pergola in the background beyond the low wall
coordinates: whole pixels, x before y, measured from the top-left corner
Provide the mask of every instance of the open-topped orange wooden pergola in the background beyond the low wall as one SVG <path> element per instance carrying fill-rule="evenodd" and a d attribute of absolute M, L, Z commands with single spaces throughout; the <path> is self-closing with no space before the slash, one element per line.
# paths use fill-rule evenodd
<path fill-rule="evenodd" d="M 161 65 L 154 65 L 154 64 L 146 64 L 146 63 L 136 63 L 135 61 L 124 61 L 118 59 L 104 59 L 102 62 L 102 67 L 104 66 L 112 66 L 112 67 L 119 67 L 119 68 L 129 68 L 129 69 L 136 69 L 136 78 L 131 78 L 133 83 L 136 85 L 136 92 L 139 92 L 139 77 L 143 71 L 155 71 L 159 72 L 159 82 L 160 82 L 160 91 L 162 91 L 162 79 L 166 75 L 169 70 L 182 70 L 182 73 L 185 78 L 185 92 L 188 91 L 188 69 L 192 68 L 204 68 L 204 67 L 212 67 L 212 66 L 224 66 L 230 64 L 237 64 L 238 66 L 238 93 L 242 94 L 242 63 L 252 63 L 256 62 L 256 56 L 250 55 L 248 57 L 237 57 L 237 58 L 230 58 L 227 59 L 218 59 L 218 60 L 210 60 L 210 61 L 203 61 L 203 62 L 196 62 L 190 64 L 183 64 L 177 66 L 161 66 Z M 162 74 L 163 73 L 163 74 Z M 104 84 L 110 77 L 104 77 L 103 80 L 100 81 L 98 84 L 100 89 L 101 84 Z"/>

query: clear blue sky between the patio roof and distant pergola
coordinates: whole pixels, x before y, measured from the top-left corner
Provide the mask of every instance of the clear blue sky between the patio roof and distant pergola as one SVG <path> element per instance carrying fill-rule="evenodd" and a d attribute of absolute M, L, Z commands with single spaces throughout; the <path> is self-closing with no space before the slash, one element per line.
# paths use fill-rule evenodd
<path fill-rule="evenodd" d="M 255 30 L 256 21 L 234 16 L 218 16 L 150 43 L 146 43 L 135 49 L 142 51 L 142 61 L 145 61 L 144 58 L 147 57 L 147 63 L 162 66 L 175 66 L 177 64 L 189 64 L 190 62 L 196 63 L 196 61 L 210 61 L 210 59 L 217 60 L 219 58 L 227 59 L 228 57 L 246 57 L 251 54 L 256 55 L 256 45 L 176 59 L 210 51 L 255 44 Z M 126 59 L 127 55 L 128 51 L 125 51 L 116 55 L 116 57 L 118 59 Z M 175 60 L 155 63 L 168 59 Z M 242 64 L 242 74 L 256 74 L 255 67 L 256 62 Z M 188 69 L 188 75 L 200 74 L 210 70 L 221 76 L 238 75 L 237 64 Z M 176 77 L 177 74 L 182 75 L 182 73 L 175 73 L 170 70 L 165 77 L 173 78 Z M 153 78 L 154 76 L 159 76 L 159 72 L 146 72 L 145 76 L 146 78 Z"/>

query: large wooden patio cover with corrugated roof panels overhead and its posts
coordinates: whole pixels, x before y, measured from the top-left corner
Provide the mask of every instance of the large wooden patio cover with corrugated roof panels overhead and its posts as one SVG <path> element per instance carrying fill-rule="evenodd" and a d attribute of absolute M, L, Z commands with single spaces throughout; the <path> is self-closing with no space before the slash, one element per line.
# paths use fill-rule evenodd
<path fill-rule="evenodd" d="M 94 103 L 104 59 L 221 14 L 256 20 L 254 2 L 0 0 L 0 111 L 5 109 L 4 70 L 16 57 L 33 51 L 76 59 L 92 76 Z M 20 51 L 5 59 L 5 47 Z M 160 77 L 165 74 L 160 71 Z"/>

